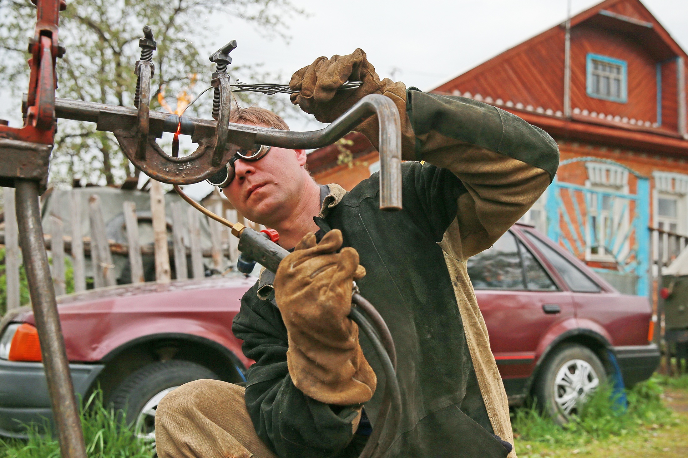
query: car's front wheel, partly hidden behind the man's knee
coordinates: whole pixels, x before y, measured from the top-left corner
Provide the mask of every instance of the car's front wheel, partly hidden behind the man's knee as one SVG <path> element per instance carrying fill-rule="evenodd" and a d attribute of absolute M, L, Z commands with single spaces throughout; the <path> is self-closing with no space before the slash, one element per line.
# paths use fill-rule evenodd
<path fill-rule="evenodd" d="M 116 411 L 125 412 L 142 439 L 155 440 L 155 409 L 173 389 L 193 380 L 218 377 L 206 367 L 184 360 L 158 361 L 146 365 L 122 380 L 110 402 Z"/>

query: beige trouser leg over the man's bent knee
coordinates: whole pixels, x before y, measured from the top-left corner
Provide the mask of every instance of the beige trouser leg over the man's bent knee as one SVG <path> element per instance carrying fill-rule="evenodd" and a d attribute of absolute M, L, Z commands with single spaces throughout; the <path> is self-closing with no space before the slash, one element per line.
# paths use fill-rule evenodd
<path fill-rule="evenodd" d="M 162 398 L 155 413 L 159 458 L 277 458 L 256 434 L 244 388 L 195 380 Z"/>

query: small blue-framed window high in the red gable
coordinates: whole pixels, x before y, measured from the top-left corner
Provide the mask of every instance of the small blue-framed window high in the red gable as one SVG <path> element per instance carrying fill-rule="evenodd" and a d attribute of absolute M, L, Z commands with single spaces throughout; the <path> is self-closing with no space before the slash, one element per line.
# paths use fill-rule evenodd
<path fill-rule="evenodd" d="M 626 62 L 588 54 L 588 95 L 597 99 L 626 102 Z"/>

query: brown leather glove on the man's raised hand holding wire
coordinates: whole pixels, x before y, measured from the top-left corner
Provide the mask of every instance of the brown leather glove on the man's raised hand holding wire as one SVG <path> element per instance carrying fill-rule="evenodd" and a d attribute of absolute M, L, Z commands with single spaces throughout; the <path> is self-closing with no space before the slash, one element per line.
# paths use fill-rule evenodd
<path fill-rule="evenodd" d="M 347 81 L 361 81 L 361 87 L 337 91 Z M 406 113 L 406 86 L 389 78 L 380 81 L 375 67 L 368 62 L 365 51 L 358 48 L 347 56 L 334 55 L 328 59 L 319 57 L 311 65 L 292 75 L 290 89 L 292 104 L 315 116 L 320 122 L 333 122 L 358 100 L 369 94 L 383 94 L 390 98 L 399 110 L 401 119 L 402 159 L 415 159 L 416 139 Z M 379 127 L 377 116 L 372 116 L 354 130 L 363 133 L 378 148 Z"/>

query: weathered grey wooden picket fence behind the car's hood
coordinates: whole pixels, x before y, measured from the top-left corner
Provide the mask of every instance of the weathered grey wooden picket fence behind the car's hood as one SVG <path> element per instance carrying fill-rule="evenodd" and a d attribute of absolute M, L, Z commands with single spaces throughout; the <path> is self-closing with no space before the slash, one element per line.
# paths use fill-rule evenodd
<path fill-rule="evenodd" d="M 11 310 L 20 306 L 21 251 L 14 207 L 14 189 L 6 187 L 3 190 L 5 231 L 0 233 L 0 244 L 4 244 L 6 249 L 7 310 Z M 237 239 L 231 236 L 228 228 L 215 220 L 209 220 L 184 201 L 174 202 L 170 206 L 172 242 L 169 243 L 164 191 L 162 185 L 156 181 L 151 181 L 150 199 L 154 239 L 152 246 L 140 243 L 139 217 L 136 213 L 136 203 L 131 201 L 122 204 L 126 244 L 107 239 L 102 203 L 98 194 L 93 194 L 88 199 L 89 236 L 83 237 L 81 232 L 82 201 L 77 192 L 72 192 L 69 198 L 70 233 L 64 232 L 63 220 L 59 216 L 51 214 L 47 217 L 50 220 L 50 229 L 49 233 L 44 235 L 45 248 L 50 250 L 52 257 L 51 273 L 56 295 L 63 295 L 67 290 L 65 255 L 72 258 L 74 292 L 87 289 L 87 258 L 90 258 L 92 264 L 94 288 L 117 284 L 113 255 L 127 256 L 132 283 L 144 282 L 144 255 L 153 255 L 155 281 L 160 283 L 171 281 L 171 262 L 176 279 L 187 279 L 189 276 L 194 279 L 203 278 L 208 270 L 206 267 L 212 275 L 224 275 L 233 269 L 239 252 Z M 221 200 L 211 201 L 208 207 L 215 213 L 222 214 Z M 259 229 L 257 225 L 241 218 L 236 210 L 227 210 L 224 216 L 232 221 L 241 219 L 244 224 Z M 202 248 L 201 218 L 208 221 L 210 249 Z M 204 258 L 207 258 L 206 262 Z"/>

